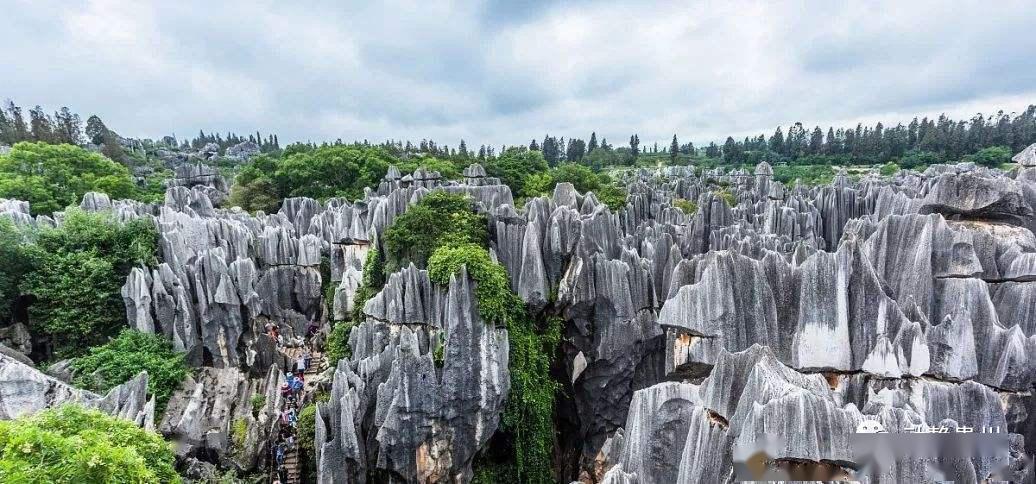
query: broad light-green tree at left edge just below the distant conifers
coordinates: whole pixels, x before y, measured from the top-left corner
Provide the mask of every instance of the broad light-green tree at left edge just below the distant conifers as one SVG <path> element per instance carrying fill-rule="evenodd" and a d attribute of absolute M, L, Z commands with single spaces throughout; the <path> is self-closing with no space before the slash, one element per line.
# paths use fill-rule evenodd
<path fill-rule="evenodd" d="M 137 189 L 125 166 L 70 144 L 22 142 L 0 155 L 0 198 L 26 200 L 33 215 L 77 204 L 87 192 L 132 198 Z"/>

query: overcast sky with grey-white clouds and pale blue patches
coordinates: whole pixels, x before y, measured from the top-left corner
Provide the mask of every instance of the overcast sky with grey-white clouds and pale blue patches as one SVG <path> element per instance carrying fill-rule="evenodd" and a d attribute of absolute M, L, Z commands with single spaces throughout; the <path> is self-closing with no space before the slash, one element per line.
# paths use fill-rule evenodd
<path fill-rule="evenodd" d="M 296 4 L 307 3 L 307 6 Z M 846 3 L 834 5 L 834 3 Z M 830 4 L 830 5 L 829 5 Z M 0 0 L 0 98 L 120 134 L 613 144 L 1036 103 L 1031 2 Z"/>

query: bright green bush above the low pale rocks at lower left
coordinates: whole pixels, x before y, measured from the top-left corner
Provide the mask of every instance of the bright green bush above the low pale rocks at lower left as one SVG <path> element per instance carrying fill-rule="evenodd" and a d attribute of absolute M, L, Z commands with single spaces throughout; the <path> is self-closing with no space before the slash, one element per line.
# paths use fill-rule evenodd
<path fill-rule="evenodd" d="M 188 376 L 183 354 L 175 352 L 172 343 L 162 336 L 130 329 L 77 358 L 73 371 L 76 385 L 94 392 L 107 392 L 147 371 L 147 391 L 154 396 L 160 412 Z"/>

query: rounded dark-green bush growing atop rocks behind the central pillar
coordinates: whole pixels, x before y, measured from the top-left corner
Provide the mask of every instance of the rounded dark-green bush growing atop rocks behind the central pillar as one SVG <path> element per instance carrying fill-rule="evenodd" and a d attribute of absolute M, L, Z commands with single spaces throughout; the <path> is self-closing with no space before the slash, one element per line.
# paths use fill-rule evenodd
<path fill-rule="evenodd" d="M 385 271 L 394 273 L 409 262 L 423 266 L 445 244 L 485 246 L 487 227 L 486 216 L 474 212 L 469 197 L 434 191 L 385 230 Z"/>

